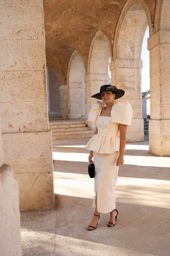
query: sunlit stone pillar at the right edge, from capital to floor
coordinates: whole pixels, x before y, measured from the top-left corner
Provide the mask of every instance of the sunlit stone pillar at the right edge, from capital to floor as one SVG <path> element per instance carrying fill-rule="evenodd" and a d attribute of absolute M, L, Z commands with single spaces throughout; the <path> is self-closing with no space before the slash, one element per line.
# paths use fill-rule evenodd
<path fill-rule="evenodd" d="M 150 50 L 149 150 L 170 156 L 170 31 L 148 38 Z"/>

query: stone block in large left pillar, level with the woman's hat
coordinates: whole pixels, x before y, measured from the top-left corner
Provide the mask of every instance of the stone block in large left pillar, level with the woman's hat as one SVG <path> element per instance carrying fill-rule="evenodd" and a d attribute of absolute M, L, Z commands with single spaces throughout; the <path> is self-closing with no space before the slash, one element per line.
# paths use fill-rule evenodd
<path fill-rule="evenodd" d="M 1 102 L 46 101 L 44 71 L 0 72 Z"/>

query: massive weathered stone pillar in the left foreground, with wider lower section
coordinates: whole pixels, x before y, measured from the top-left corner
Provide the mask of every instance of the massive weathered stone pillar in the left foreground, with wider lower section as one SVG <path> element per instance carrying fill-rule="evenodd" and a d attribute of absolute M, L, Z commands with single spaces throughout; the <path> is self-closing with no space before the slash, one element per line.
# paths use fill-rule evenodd
<path fill-rule="evenodd" d="M 43 1 L 0 1 L 0 10 L 4 162 L 17 177 L 21 210 L 53 209 Z"/>

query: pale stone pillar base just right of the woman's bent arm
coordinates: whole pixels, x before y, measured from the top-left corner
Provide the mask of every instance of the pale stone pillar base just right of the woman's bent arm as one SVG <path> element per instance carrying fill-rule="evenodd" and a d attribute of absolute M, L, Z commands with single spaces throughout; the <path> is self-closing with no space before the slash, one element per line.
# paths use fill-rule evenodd
<path fill-rule="evenodd" d="M 144 141 L 144 120 L 132 119 L 130 127 L 127 127 L 126 142 Z"/>

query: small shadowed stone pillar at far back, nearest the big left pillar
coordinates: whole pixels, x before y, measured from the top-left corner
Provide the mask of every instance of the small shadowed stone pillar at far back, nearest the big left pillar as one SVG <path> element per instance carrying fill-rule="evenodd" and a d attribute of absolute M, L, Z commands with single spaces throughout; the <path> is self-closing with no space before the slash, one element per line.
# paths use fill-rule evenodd
<path fill-rule="evenodd" d="M 60 107 L 62 119 L 68 119 L 68 86 L 67 84 L 59 86 Z"/>

